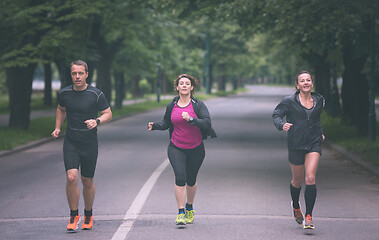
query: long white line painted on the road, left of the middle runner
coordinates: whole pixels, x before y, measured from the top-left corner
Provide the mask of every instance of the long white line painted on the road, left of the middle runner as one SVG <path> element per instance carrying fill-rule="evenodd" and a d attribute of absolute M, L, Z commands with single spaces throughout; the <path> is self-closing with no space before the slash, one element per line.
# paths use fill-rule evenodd
<path fill-rule="evenodd" d="M 137 219 L 139 213 L 141 212 L 141 209 L 145 204 L 146 199 L 151 192 L 151 189 L 153 189 L 159 176 L 166 169 L 168 164 L 168 159 L 165 159 L 163 163 L 153 172 L 150 178 L 143 185 L 136 198 L 134 199 L 132 205 L 130 206 L 129 210 L 126 212 L 122 224 L 117 229 L 116 233 L 113 235 L 112 240 L 124 240 L 126 238 L 130 229 L 133 227 L 133 224 Z"/>

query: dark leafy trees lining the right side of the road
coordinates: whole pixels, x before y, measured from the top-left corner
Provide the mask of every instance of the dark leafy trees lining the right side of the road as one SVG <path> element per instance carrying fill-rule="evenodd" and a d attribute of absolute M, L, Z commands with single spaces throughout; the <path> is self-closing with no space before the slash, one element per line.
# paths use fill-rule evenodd
<path fill-rule="evenodd" d="M 325 96 L 327 110 L 334 116 L 341 108 L 337 86 L 341 76 L 343 117 L 359 134 L 368 133 L 369 92 L 373 110 L 374 86 L 379 83 L 374 75 L 379 56 L 379 48 L 375 48 L 379 43 L 375 35 L 378 1 L 226 0 L 220 9 L 224 16 L 236 19 L 247 36 L 265 34 L 268 45 L 278 48 L 270 52 L 282 64 L 295 57 L 297 66 L 310 68 L 316 89 Z M 282 64 L 279 66 L 285 67 Z M 375 116 L 373 119 L 375 124 Z"/>

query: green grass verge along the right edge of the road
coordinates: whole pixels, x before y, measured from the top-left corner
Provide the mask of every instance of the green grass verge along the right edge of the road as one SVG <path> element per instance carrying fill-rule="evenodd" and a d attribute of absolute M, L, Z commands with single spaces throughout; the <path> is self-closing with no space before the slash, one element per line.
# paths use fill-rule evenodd
<path fill-rule="evenodd" d="M 325 112 L 321 115 L 325 136 L 346 150 L 362 157 L 366 162 L 379 167 L 379 124 L 376 124 L 377 141 L 371 142 L 367 136 L 358 136 L 356 129 L 340 118 L 329 117 Z"/>

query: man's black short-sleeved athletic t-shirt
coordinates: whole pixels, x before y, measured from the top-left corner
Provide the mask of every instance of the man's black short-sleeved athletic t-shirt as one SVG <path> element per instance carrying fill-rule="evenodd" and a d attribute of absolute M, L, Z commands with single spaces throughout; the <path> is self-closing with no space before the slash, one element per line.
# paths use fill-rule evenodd
<path fill-rule="evenodd" d="M 109 107 L 103 92 L 91 85 L 83 91 L 67 86 L 59 91 L 58 104 L 66 108 L 68 138 L 76 141 L 97 139 L 97 128 L 89 130 L 85 121 L 96 119 L 99 111 Z"/>

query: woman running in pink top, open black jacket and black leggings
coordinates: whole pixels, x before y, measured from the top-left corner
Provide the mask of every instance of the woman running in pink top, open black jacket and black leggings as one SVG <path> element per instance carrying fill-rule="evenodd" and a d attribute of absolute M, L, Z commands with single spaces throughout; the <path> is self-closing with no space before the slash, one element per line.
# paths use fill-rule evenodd
<path fill-rule="evenodd" d="M 179 96 L 167 105 L 163 120 L 149 122 L 148 129 L 169 129 L 167 155 L 175 173 L 175 197 L 179 209 L 176 224 L 186 225 L 194 221 L 196 178 L 205 158 L 203 139 L 214 138 L 216 133 L 207 107 L 192 96 L 199 86 L 198 80 L 182 74 L 175 79 L 174 86 Z"/>

